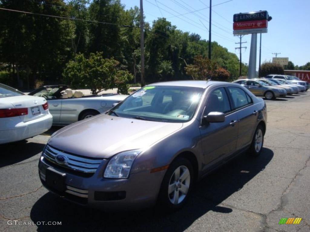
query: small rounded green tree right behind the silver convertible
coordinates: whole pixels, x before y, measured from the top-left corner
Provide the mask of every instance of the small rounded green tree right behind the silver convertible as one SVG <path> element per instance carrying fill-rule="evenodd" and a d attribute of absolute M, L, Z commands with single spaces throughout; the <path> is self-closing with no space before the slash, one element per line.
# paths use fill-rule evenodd
<path fill-rule="evenodd" d="M 73 88 L 89 88 L 92 94 L 98 94 L 113 88 L 112 80 L 118 64 L 114 59 L 104 59 L 102 52 L 91 53 L 88 59 L 77 54 L 75 60 L 67 63 L 64 80 Z"/>

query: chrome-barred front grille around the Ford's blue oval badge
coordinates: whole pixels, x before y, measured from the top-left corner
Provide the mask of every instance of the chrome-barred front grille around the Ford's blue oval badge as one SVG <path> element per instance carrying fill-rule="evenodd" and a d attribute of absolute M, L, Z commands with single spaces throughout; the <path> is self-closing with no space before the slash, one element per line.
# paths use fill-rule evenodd
<path fill-rule="evenodd" d="M 66 157 L 66 161 L 64 163 L 57 163 L 56 156 L 63 155 Z M 53 164 L 56 167 L 65 168 L 67 170 L 72 170 L 74 172 L 78 172 L 81 174 L 94 174 L 104 160 L 102 158 L 90 158 L 90 157 L 82 157 L 74 154 L 69 154 L 66 152 L 62 152 L 58 149 L 47 145 L 43 151 L 43 157 L 45 161 L 48 161 L 49 164 Z"/>

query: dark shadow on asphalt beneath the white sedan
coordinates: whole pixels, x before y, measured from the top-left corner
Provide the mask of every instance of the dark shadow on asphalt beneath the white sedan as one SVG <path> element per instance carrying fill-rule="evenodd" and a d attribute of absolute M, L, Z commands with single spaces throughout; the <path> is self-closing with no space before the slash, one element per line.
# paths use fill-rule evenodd
<path fill-rule="evenodd" d="M 0 155 L 0 168 L 33 157 L 41 153 L 44 146 L 45 144 L 27 142 L 27 140 L 1 144 L 0 150 L 2 155 Z"/>

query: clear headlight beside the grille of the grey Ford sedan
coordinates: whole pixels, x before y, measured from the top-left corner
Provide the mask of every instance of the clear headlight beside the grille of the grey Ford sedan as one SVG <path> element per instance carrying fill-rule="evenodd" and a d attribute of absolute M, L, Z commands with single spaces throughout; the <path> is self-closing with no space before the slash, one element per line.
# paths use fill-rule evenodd
<path fill-rule="evenodd" d="M 142 152 L 142 149 L 131 150 L 116 154 L 108 162 L 104 171 L 105 178 L 128 178 L 131 166 L 135 158 Z"/>

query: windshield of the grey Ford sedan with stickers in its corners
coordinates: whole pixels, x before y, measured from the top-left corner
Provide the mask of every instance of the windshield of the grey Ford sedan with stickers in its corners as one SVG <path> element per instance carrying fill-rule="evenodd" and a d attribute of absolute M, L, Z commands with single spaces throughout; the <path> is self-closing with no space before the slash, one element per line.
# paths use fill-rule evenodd
<path fill-rule="evenodd" d="M 108 114 L 160 122 L 186 122 L 193 118 L 203 88 L 146 86 L 112 108 Z"/>

